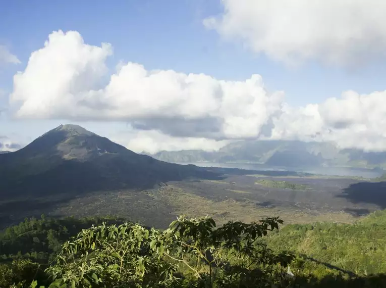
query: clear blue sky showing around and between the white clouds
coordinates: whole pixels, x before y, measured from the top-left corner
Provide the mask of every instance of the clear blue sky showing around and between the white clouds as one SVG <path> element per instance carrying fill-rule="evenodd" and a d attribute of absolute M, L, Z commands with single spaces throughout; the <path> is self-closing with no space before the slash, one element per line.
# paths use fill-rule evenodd
<path fill-rule="evenodd" d="M 0 4 L 0 45 L 7 47 L 21 63 L 0 64 L 0 89 L 3 91 L 0 107 L 9 108 L 9 94 L 14 89 L 15 73 L 24 71 L 31 53 L 41 49 L 48 35 L 58 30 L 77 31 L 86 44 L 112 44 L 114 54 L 105 61 L 110 71 L 104 78 L 106 82 L 108 75 L 115 73 L 116 65 L 123 61 L 139 63 L 146 70 L 203 73 L 228 81 L 245 81 L 251 75 L 259 74 L 264 87 L 269 92 L 283 90 L 286 104 L 292 107 L 323 103 L 332 97 L 340 98 L 346 90 L 370 94 L 385 89 L 386 66 L 383 58 L 374 58 L 363 65 L 354 65 L 353 68 L 352 65 L 329 65 L 318 57 L 311 57 L 294 68 L 281 59 L 273 59 L 269 53 L 256 52 L 248 45 L 248 41 L 232 37 L 229 39 L 223 30 L 208 29 L 203 20 L 224 15 L 225 8 L 232 7 L 231 2 L 127 0 L 115 1 L 113 4 L 88 0 L 3 1 Z M 245 5 L 251 3 L 247 0 L 241 2 Z M 371 3 L 374 1 L 369 2 L 370 6 Z M 39 81 L 43 83 L 49 79 Z M 59 120 L 17 120 L 14 119 L 14 112 L 11 109 L 3 113 L 0 118 L 0 135 L 9 138 L 14 135 L 14 141 L 22 144 L 57 123 L 74 122 L 71 117 Z M 109 127 L 112 125 L 108 121 L 87 123 L 91 122 L 85 124 L 89 127 L 106 126 L 105 130 L 100 130 L 101 133 L 111 130 Z M 119 127 L 115 128 L 116 133 L 120 133 L 118 131 L 121 131 L 121 127 L 127 127 L 126 121 L 114 123 L 114 127 Z M 159 131 L 166 133 L 166 129 Z M 181 138 L 181 135 L 170 135 Z M 188 136 L 206 138 L 202 135 Z"/>

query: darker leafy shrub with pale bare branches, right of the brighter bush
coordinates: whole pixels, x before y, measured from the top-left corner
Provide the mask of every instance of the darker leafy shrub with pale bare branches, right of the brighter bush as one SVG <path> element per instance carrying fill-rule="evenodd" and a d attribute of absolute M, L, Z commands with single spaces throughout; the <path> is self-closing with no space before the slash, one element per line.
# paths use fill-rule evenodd
<path fill-rule="evenodd" d="M 286 267 L 294 256 L 275 255 L 259 238 L 278 229 L 281 223 L 279 217 L 250 224 L 230 221 L 216 229 L 212 218 L 180 217 L 163 233 L 171 239 L 169 249 L 174 251 L 173 256 L 165 255 L 184 263 L 206 286 L 271 285 L 280 275 L 278 264 Z"/>

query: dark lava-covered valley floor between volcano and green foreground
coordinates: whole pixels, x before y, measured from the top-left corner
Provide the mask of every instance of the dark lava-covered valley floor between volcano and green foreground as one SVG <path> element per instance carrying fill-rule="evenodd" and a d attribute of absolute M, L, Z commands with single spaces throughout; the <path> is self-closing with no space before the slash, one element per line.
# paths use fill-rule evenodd
<path fill-rule="evenodd" d="M 307 188 L 274 188 L 256 184 L 259 179 Z M 52 217 L 114 214 L 159 228 L 167 227 L 178 215 L 209 215 L 218 223 L 251 222 L 267 216 L 280 216 L 287 224 L 348 223 L 386 207 L 386 198 L 381 195 L 385 184 L 348 178 L 225 175 L 218 180 L 168 182 L 148 190 L 0 202 L 0 222 L 6 226 L 44 213 Z"/>

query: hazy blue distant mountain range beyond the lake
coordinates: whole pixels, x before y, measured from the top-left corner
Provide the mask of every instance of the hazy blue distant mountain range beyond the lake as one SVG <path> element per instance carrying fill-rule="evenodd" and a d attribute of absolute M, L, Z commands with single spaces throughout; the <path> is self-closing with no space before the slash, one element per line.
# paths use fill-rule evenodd
<path fill-rule="evenodd" d="M 150 154 L 149 154 L 150 155 Z M 340 149 L 333 143 L 287 140 L 243 140 L 215 152 L 183 150 L 161 151 L 152 157 L 172 163 L 239 162 L 282 167 L 386 168 L 386 152 Z"/>

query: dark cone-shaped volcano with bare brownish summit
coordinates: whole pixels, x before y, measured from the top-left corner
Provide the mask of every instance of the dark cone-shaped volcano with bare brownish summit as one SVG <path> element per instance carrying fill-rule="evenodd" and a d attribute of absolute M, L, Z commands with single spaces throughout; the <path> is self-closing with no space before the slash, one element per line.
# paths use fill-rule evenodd
<path fill-rule="evenodd" d="M 60 125 L 28 146 L 0 154 L 0 196 L 39 196 L 121 188 L 209 173 L 136 154 L 77 125 Z"/>

